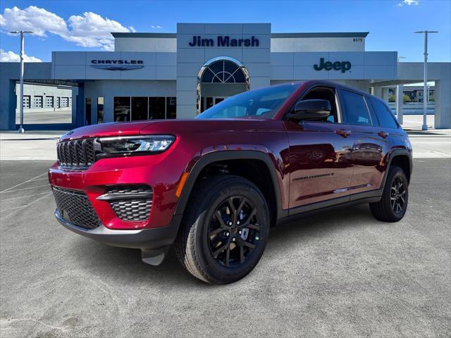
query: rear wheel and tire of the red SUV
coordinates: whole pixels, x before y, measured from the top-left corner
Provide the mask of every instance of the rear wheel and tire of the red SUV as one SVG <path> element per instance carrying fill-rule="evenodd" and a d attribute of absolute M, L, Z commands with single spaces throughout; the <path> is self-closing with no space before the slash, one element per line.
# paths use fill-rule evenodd
<path fill-rule="evenodd" d="M 388 171 L 381 201 L 370 203 L 369 208 L 376 220 L 397 222 L 404 217 L 408 201 L 409 182 L 406 174 L 400 167 L 393 165 Z"/>

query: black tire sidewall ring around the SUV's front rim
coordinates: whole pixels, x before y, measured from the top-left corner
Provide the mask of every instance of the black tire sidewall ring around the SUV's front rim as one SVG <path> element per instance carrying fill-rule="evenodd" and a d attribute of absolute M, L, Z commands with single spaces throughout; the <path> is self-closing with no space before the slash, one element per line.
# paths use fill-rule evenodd
<path fill-rule="evenodd" d="M 196 228 L 196 246 L 199 248 L 199 261 L 208 268 L 210 277 L 218 283 L 228 283 L 240 280 L 245 277 L 259 262 L 261 255 L 266 247 L 269 234 L 269 213 L 268 206 L 264 196 L 259 192 L 259 189 L 255 187 L 251 182 L 240 182 L 238 184 L 227 184 L 216 191 L 210 196 L 205 196 L 205 207 L 202 208 L 203 212 L 197 219 Z M 231 196 L 244 196 L 251 204 L 257 208 L 257 220 L 260 225 L 259 243 L 255 249 L 249 253 L 246 261 L 236 267 L 226 267 L 221 263 L 218 263 L 211 254 L 209 248 L 209 223 L 216 211 L 216 208 L 220 206 L 223 201 Z"/>

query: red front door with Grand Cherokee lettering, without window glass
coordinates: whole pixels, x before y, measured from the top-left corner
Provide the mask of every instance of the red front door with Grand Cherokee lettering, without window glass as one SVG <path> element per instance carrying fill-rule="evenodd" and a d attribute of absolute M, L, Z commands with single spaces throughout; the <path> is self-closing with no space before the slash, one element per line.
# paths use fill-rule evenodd
<path fill-rule="evenodd" d="M 301 99 L 328 99 L 332 112 L 324 121 L 285 121 L 290 142 L 290 208 L 338 197 L 346 201 L 352 176 L 352 127 L 341 123 L 334 88 L 316 87 Z"/>

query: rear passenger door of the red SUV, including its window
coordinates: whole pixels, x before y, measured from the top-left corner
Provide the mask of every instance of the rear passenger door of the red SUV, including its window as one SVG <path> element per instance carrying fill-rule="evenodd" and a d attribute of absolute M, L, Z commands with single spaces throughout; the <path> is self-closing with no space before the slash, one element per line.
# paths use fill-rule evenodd
<path fill-rule="evenodd" d="M 350 192 L 358 194 L 378 189 L 383 180 L 387 135 L 379 128 L 369 96 L 347 89 L 340 89 L 339 94 L 343 118 L 354 131 Z"/>

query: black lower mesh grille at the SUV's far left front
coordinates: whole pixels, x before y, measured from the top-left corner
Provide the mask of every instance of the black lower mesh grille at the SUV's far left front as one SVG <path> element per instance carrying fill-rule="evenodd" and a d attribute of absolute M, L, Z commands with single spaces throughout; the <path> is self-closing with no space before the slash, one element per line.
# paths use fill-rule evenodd
<path fill-rule="evenodd" d="M 73 225 L 94 229 L 101 225 L 97 213 L 84 192 L 53 187 L 58 213 Z"/>

